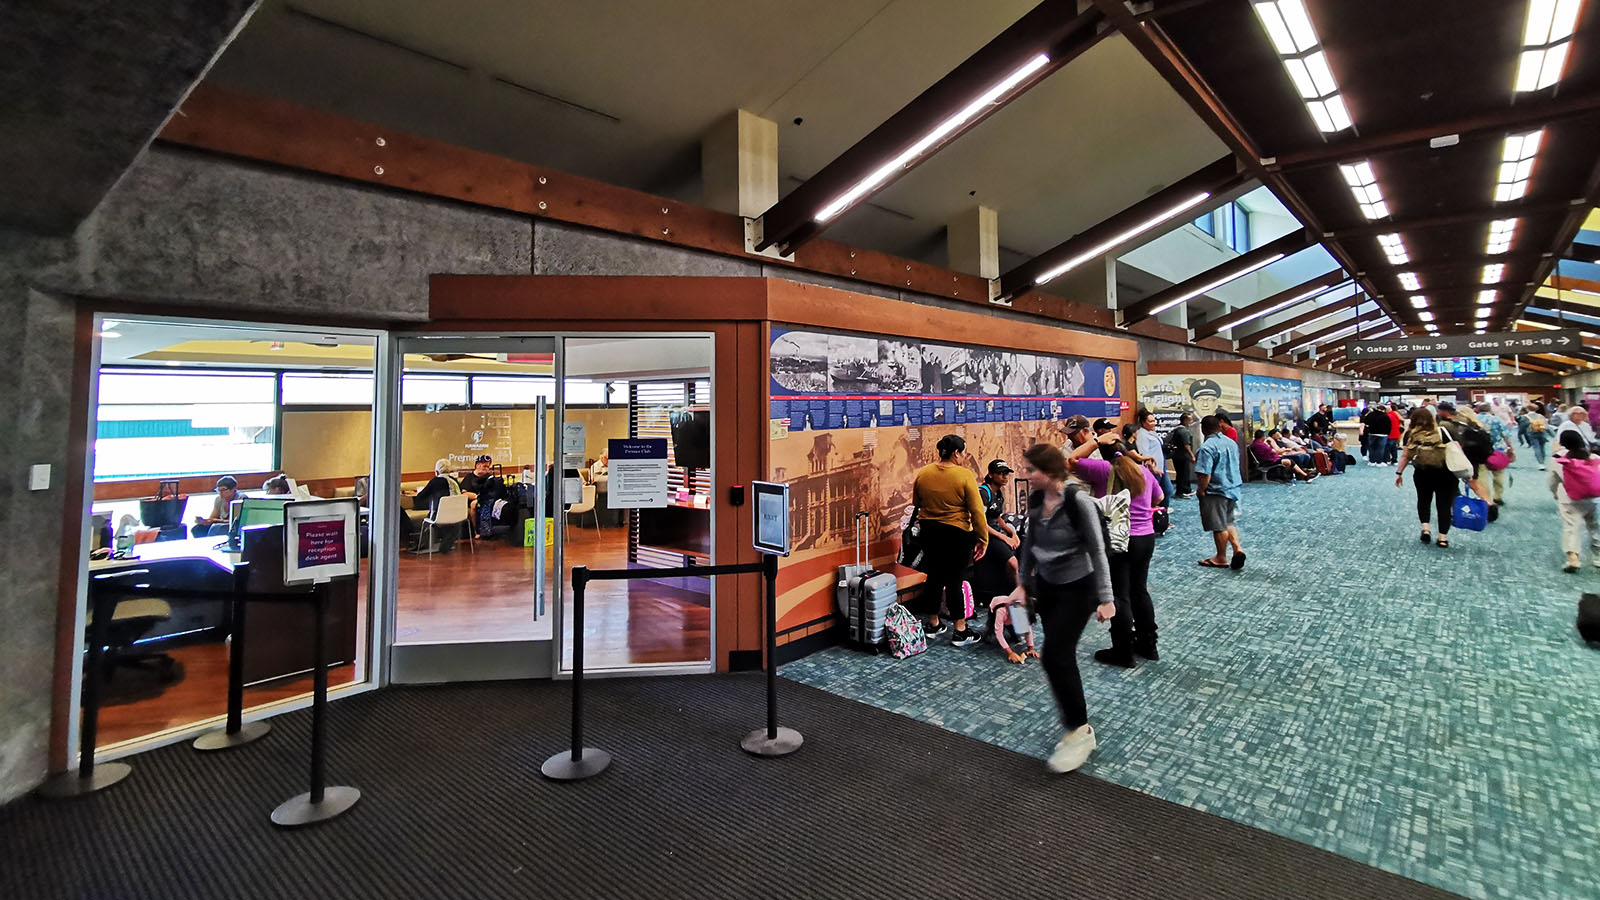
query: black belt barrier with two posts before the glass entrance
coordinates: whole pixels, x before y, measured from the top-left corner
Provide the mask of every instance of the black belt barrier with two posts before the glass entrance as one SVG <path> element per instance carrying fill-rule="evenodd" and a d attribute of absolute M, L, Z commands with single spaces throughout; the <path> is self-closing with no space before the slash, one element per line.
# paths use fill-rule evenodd
<path fill-rule="evenodd" d="M 584 746 L 584 591 L 589 581 L 634 581 L 640 578 L 712 578 L 717 575 L 755 575 L 766 583 L 766 727 L 739 741 L 755 756 L 787 756 L 805 743 L 800 732 L 778 727 L 778 557 L 734 565 L 683 565 L 677 569 L 594 569 L 573 567 L 573 725 L 571 748 L 544 762 L 546 778 L 578 781 L 598 775 L 611 765 L 611 754 Z"/>

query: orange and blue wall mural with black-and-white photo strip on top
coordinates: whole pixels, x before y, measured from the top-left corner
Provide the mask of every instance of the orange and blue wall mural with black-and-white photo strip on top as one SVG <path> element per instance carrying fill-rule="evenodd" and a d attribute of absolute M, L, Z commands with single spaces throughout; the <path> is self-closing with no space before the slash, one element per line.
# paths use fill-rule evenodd
<path fill-rule="evenodd" d="M 874 559 L 888 562 L 912 479 L 939 437 L 966 440 L 981 480 L 989 460 L 1019 468 L 1027 447 L 1062 444 L 1067 416 L 1122 410 L 1110 362 L 779 327 L 771 335 L 770 477 L 789 484 L 794 533 L 779 629 L 832 613 L 834 569 L 854 554 L 858 512 Z"/>

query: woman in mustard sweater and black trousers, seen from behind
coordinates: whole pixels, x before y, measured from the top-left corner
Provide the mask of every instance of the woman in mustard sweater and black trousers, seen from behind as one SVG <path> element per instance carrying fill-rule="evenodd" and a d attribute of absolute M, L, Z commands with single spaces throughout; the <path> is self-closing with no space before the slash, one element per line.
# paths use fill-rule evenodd
<path fill-rule="evenodd" d="M 946 434 L 938 444 L 939 461 L 917 471 L 912 501 L 922 522 L 923 572 L 928 581 L 917 596 L 918 615 L 928 617 L 928 637 L 949 628 L 939 620 L 941 604 L 955 620 L 950 644 L 966 647 L 981 637 L 966 628 L 966 602 L 962 596 L 966 565 L 982 559 L 989 548 L 984 501 L 978 492 L 978 476 L 966 468 L 966 442 Z"/>

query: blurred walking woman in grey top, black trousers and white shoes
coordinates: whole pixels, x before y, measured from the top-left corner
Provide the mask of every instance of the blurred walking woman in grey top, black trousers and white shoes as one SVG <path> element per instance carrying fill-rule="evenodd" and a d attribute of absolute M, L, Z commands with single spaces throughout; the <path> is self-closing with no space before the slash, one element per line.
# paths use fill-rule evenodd
<path fill-rule="evenodd" d="M 1072 772 L 1094 751 L 1094 729 L 1078 674 L 1078 639 L 1090 617 L 1110 621 L 1110 562 L 1099 509 L 1090 492 L 1067 476 L 1067 460 L 1048 444 L 1022 455 L 1022 477 L 1037 485 L 1027 498 L 1027 530 L 1019 554 L 1021 585 L 1013 602 L 1034 596 L 1045 626 L 1045 676 L 1066 733 L 1045 761 L 1050 772 Z"/>

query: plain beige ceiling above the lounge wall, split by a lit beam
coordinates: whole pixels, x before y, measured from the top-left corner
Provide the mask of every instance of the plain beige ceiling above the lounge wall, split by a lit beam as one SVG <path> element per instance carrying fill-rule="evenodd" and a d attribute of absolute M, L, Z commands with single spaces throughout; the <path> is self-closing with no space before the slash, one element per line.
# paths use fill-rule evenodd
<path fill-rule="evenodd" d="M 778 122 L 789 191 L 1035 2 L 267 0 L 211 78 L 698 202 L 733 109 Z M 1224 154 L 1110 37 L 827 237 L 942 263 L 944 223 L 984 203 L 1016 261 Z"/>

